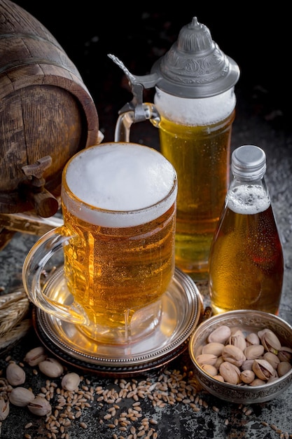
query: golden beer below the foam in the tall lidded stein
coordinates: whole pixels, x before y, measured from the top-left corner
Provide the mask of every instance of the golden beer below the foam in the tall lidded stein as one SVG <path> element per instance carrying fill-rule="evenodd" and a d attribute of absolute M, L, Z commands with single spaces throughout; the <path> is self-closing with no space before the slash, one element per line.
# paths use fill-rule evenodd
<path fill-rule="evenodd" d="M 211 240 L 229 184 L 230 135 L 234 112 L 209 126 L 183 126 L 164 117 L 160 148 L 179 180 L 176 266 L 205 278 Z"/>

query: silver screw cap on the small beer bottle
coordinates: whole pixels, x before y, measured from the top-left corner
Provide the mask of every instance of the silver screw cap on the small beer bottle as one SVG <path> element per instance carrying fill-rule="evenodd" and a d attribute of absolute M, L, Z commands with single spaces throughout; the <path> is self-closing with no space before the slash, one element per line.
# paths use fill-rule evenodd
<path fill-rule="evenodd" d="M 242 145 L 231 157 L 231 171 L 235 177 L 258 180 L 265 175 L 266 157 L 263 149 L 255 145 Z"/>

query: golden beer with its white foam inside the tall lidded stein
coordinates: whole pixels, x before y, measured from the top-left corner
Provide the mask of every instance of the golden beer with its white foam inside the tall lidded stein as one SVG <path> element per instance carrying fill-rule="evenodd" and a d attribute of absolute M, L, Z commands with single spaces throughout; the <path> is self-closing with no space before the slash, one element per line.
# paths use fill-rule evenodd
<path fill-rule="evenodd" d="M 211 240 L 230 175 L 235 94 L 187 99 L 156 89 L 160 151 L 176 169 L 176 266 L 195 281 L 207 280 Z"/>

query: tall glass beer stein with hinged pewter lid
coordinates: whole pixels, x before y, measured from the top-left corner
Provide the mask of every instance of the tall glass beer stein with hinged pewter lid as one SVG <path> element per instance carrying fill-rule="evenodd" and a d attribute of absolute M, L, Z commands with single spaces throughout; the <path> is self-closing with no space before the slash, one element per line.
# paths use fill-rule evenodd
<path fill-rule="evenodd" d="M 116 140 L 129 141 L 132 123 L 146 119 L 159 128 L 160 151 L 179 180 L 176 266 L 195 281 L 206 280 L 211 239 L 229 185 L 239 68 L 197 18 L 182 27 L 151 74 L 134 76 L 116 56 L 109 58 L 123 69 L 134 95 L 120 110 Z M 143 102 L 143 89 L 153 87 L 154 103 Z"/>

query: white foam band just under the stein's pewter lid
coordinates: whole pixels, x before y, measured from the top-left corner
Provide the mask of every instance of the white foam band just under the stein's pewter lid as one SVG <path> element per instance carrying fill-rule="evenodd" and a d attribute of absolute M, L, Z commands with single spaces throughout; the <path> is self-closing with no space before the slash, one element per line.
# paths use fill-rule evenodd
<path fill-rule="evenodd" d="M 188 99 L 156 88 L 154 103 L 161 116 L 181 125 L 204 126 L 226 119 L 235 109 L 234 88 L 211 97 Z"/>

